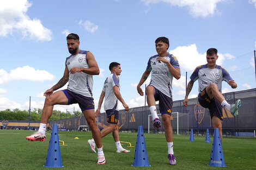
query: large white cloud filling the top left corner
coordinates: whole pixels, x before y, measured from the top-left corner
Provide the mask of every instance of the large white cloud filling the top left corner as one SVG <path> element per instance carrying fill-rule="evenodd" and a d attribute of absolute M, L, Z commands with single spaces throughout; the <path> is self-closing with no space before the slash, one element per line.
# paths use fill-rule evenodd
<path fill-rule="evenodd" d="M 37 18 L 26 14 L 32 3 L 27 0 L 0 1 L 0 36 L 19 33 L 36 41 L 51 41 L 52 32 Z"/>

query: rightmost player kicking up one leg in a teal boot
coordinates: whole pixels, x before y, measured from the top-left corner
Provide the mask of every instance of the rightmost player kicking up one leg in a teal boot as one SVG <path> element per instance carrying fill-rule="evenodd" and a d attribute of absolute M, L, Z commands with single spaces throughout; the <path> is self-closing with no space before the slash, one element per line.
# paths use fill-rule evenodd
<path fill-rule="evenodd" d="M 216 48 L 210 48 L 206 52 L 207 64 L 198 66 L 190 77 L 188 82 L 186 96 L 183 101 L 184 106 L 187 106 L 188 95 L 192 90 L 194 81 L 198 79 L 198 102 L 204 108 L 208 108 L 211 121 L 214 128 L 220 131 L 222 142 L 222 106 L 231 112 L 233 116 L 238 115 L 238 108 L 241 106 L 241 100 L 236 100 L 235 104 L 230 105 L 221 93 L 222 81 L 226 81 L 233 89 L 237 87 L 235 81 L 230 77 L 227 70 L 223 67 L 216 65 L 218 59 Z"/>

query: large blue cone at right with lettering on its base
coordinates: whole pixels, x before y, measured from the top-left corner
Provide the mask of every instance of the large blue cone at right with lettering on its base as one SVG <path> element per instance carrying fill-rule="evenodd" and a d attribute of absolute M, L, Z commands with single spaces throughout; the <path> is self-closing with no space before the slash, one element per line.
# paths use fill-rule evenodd
<path fill-rule="evenodd" d="M 212 142 L 209 166 L 226 167 L 221 146 L 221 137 L 218 128 L 214 129 L 214 140 Z"/>

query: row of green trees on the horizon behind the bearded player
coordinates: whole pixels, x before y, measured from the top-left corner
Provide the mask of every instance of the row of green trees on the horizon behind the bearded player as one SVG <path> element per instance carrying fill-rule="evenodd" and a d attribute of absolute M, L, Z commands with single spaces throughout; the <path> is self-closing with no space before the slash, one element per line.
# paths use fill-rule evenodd
<path fill-rule="evenodd" d="M 31 113 L 30 113 L 31 121 L 40 121 L 41 114 L 42 114 L 42 109 L 34 109 L 33 111 L 31 110 Z M 60 112 L 58 110 L 53 110 L 50 121 L 57 121 L 59 119 L 64 119 L 66 117 L 70 118 L 70 117 L 77 117 L 81 115 L 82 115 L 82 112 L 79 112 L 79 111 L 75 111 L 74 114 L 71 115 L 70 111 L 65 113 L 65 112 Z M 11 111 L 10 109 L 2 110 L 0 111 L 0 119 L 26 121 L 29 119 L 29 110 L 23 110 L 23 111 L 21 111 L 20 109 L 14 109 L 13 111 Z"/>

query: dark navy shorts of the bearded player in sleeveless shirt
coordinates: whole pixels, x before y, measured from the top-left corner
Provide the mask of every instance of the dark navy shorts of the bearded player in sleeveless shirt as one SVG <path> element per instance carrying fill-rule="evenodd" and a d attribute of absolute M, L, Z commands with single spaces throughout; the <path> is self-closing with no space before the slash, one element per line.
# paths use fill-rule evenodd
<path fill-rule="evenodd" d="M 94 109 L 94 102 L 92 97 L 82 96 L 68 89 L 62 91 L 65 93 L 66 98 L 68 98 L 68 105 L 78 103 L 82 112 L 84 110 Z"/>

